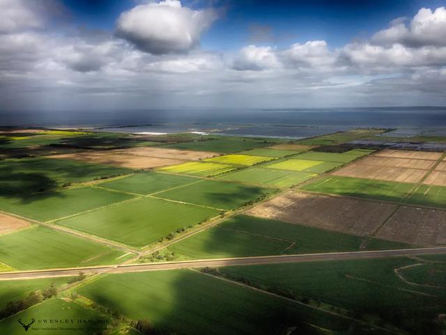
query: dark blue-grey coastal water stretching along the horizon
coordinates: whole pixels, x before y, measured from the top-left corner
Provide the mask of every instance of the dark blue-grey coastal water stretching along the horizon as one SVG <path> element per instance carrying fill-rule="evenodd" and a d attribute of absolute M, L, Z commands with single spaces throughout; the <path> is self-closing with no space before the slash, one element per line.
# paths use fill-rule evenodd
<path fill-rule="evenodd" d="M 213 132 L 312 137 L 353 127 L 397 129 L 389 136 L 446 134 L 445 107 L 344 109 L 151 109 L 0 112 L 0 125 L 87 127 L 113 132 Z"/>

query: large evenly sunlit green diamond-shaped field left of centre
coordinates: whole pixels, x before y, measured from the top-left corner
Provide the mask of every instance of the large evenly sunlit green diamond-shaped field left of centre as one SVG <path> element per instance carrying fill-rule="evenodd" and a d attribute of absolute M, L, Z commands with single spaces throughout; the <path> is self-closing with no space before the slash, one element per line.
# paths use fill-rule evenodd
<path fill-rule="evenodd" d="M 56 223 L 134 247 L 143 247 L 174 233 L 178 228 L 198 224 L 219 213 L 210 208 L 139 198 Z"/>

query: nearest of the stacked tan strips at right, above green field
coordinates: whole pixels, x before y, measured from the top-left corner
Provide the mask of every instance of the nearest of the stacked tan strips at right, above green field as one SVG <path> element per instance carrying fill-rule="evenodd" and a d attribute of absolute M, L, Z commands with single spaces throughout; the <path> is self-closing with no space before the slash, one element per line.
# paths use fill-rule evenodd
<path fill-rule="evenodd" d="M 342 169 L 334 171 L 334 176 L 353 178 L 368 178 L 388 180 L 394 182 L 420 182 L 428 170 L 408 169 L 403 167 L 390 167 L 378 165 L 365 165 L 360 162 L 349 164 Z"/>

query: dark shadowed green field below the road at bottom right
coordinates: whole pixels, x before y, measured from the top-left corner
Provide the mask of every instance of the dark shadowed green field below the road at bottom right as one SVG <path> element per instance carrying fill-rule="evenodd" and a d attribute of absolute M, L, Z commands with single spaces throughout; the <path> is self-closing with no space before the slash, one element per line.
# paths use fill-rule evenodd
<path fill-rule="evenodd" d="M 410 334 L 426 334 L 425 327 L 434 326 L 446 296 L 440 288 L 411 286 L 394 273 L 415 262 L 380 258 L 222 267 L 220 272 L 295 299 L 354 310 L 359 318 L 374 315 Z"/>

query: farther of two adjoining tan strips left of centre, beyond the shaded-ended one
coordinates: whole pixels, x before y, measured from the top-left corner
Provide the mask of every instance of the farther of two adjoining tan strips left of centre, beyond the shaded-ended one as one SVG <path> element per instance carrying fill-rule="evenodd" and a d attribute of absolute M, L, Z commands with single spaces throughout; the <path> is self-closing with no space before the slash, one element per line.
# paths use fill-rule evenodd
<path fill-rule="evenodd" d="M 182 160 L 199 160 L 221 155 L 219 153 L 212 153 L 210 151 L 192 151 L 192 150 L 178 150 L 178 149 L 153 148 L 153 147 L 119 149 L 114 151 L 116 153 L 124 153 L 126 155 L 171 158 L 171 159 L 182 159 Z"/>

